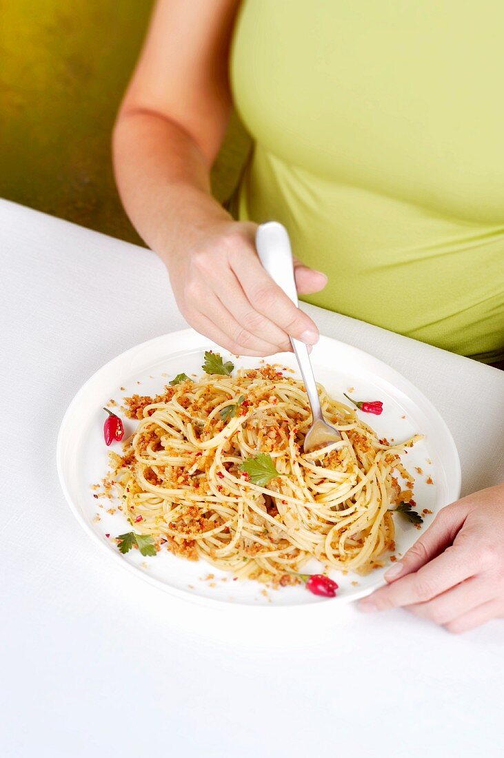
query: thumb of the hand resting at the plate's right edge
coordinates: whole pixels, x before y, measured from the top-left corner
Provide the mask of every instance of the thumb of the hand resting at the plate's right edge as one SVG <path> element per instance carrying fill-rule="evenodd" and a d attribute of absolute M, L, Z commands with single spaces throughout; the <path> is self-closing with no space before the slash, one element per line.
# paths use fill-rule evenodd
<path fill-rule="evenodd" d="M 467 509 L 457 504 L 440 510 L 434 522 L 424 534 L 410 547 L 402 560 L 397 561 L 385 573 L 387 581 L 396 581 L 399 577 L 418 571 L 430 559 L 439 556 L 452 544 L 455 535 L 462 527 Z"/>

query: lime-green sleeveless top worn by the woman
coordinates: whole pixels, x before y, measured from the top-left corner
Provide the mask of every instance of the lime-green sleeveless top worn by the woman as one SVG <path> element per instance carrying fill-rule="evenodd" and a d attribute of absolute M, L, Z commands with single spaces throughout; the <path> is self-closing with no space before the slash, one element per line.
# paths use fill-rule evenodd
<path fill-rule="evenodd" d="M 504 2 L 245 0 L 236 218 L 285 224 L 308 302 L 504 358 Z"/>

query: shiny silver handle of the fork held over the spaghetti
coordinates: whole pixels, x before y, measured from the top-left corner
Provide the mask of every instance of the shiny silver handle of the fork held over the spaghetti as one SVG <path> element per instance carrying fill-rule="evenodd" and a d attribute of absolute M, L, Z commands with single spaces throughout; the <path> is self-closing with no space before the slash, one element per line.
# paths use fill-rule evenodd
<path fill-rule="evenodd" d="M 261 224 L 255 234 L 255 246 L 259 260 L 265 271 L 268 272 L 274 283 L 286 293 L 286 296 L 297 307 L 298 293 L 294 278 L 293 253 L 290 249 L 290 240 L 286 228 L 277 221 L 268 221 L 266 224 Z M 293 346 L 299 364 L 299 371 L 301 371 L 302 379 L 305 383 L 313 421 L 319 418 L 324 419 L 308 348 L 304 342 L 295 340 L 293 337 L 290 337 L 290 343 Z"/>

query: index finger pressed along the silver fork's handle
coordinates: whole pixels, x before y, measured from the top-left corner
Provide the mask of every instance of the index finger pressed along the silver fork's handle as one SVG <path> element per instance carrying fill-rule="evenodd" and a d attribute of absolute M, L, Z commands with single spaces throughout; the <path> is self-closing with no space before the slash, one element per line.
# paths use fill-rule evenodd
<path fill-rule="evenodd" d="M 231 266 L 253 308 L 290 337 L 308 345 L 318 342 L 315 322 L 303 313 L 262 268 L 255 255 L 232 259 Z"/>

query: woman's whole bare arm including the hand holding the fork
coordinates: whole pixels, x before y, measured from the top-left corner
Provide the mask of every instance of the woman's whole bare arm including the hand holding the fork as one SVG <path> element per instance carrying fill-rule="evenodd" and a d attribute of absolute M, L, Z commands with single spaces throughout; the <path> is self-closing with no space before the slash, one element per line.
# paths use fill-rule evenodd
<path fill-rule="evenodd" d="M 227 77 L 237 0 L 159 0 L 114 128 L 121 199 L 167 265 L 189 324 L 232 352 L 270 355 L 289 335 L 315 343 L 314 322 L 265 274 L 255 224 L 211 197 L 209 172 L 231 98 Z M 302 293 L 324 274 L 297 266 Z"/>

